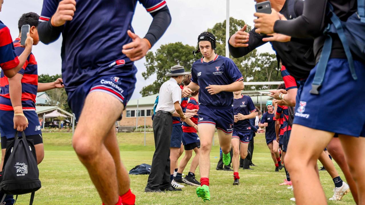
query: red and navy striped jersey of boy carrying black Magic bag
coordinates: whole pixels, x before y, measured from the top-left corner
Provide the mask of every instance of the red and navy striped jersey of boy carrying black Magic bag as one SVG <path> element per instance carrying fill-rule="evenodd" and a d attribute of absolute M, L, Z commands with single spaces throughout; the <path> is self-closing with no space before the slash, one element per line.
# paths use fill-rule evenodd
<path fill-rule="evenodd" d="M 23 53 L 24 48 L 20 47 L 20 38 L 15 39 L 14 47 L 16 55 Z M 22 78 L 22 107 L 23 110 L 35 110 L 35 98 L 38 89 L 38 67 L 34 55 L 31 53 L 22 69 L 19 70 Z M 12 111 L 13 107 L 9 95 L 9 81 L 4 72 L 0 74 L 0 110 Z"/>

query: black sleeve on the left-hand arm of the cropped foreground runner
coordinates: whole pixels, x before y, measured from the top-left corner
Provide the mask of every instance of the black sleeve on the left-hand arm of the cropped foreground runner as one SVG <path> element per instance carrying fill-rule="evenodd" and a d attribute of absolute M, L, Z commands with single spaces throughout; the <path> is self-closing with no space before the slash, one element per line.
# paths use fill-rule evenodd
<path fill-rule="evenodd" d="M 63 29 L 64 26 L 52 26 L 51 20 L 47 22 L 40 22 L 38 24 L 39 40 L 41 40 L 44 44 L 52 43 L 59 38 Z"/>

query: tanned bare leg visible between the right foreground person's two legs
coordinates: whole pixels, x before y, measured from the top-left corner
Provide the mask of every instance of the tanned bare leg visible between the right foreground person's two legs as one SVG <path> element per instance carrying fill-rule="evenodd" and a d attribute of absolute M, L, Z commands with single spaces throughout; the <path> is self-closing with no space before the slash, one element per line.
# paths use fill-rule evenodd
<path fill-rule="evenodd" d="M 341 168 L 343 175 L 345 175 L 346 182 L 350 186 L 352 197 L 354 198 L 356 204 L 359 203 L 357 187 L 354 179 L 351 177 L 349 166 L 347 166 L 345 153 L 341 146 L 341 142 L 338 138 L 333 138 L 331 142 L 327 145 L 328 153 L 332 156 L 338 166 Z"/>

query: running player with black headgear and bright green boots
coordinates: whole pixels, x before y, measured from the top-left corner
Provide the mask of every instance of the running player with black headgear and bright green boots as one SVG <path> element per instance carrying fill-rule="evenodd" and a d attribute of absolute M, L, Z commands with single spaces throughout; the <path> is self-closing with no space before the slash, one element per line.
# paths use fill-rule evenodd
<path fill-rule="evenodd" d="M 199 49 L 194 52 L 200 52 L 203 58 L 193 63 L 191 83 L 183 90 L 183 96 L 189 96 L 200 86 L 198 130 L 201 186 L 197 187 L 196 194 L 204 201 L 210 200 L 209 155 L 215 128 L 218 130 L 219 144 L 223 151 L 223 163 L 229 165 L 234 123 L 232 92 L 243 90 L 241 72 L 231 59 L 214 52 L 215 43 L 215 37 L 210 32 L 203 32 L 198 36 Z"/>

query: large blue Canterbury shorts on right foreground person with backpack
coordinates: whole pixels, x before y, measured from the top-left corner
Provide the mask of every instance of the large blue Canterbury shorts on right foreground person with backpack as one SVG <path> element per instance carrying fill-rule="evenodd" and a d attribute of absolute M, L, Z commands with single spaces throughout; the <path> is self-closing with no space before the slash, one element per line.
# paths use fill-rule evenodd
<path fill-rule="evenodd" d="M 351 77 L 347 59 L 329 59 L 318 95 L 310 93 L 314 67 L 298 89 L 293 123 L 336 134 L 365 134 L 365 65 L 360 61 L 354 65 L 358 80 Z"/>

